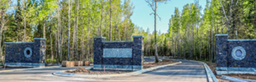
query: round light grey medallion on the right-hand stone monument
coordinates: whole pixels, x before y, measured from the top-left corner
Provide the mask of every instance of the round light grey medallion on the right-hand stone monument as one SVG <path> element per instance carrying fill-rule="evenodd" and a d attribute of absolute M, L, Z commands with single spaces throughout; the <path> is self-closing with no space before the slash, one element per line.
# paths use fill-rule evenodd
<path fill-rule="evenodd" d="M 246 50 L 243 47 L 234 47 L 231 54 L 235 60 L 240 61 L 246 57 Z"/>

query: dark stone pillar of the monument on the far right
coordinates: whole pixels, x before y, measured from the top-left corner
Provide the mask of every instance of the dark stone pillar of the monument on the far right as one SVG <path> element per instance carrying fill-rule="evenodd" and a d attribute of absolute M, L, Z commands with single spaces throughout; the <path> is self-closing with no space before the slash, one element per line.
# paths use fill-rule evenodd
<path fill-rule="evenodd" d="M 216 71 L 227 71 L 227 34 L 216 34 L 215 36 Z"/>

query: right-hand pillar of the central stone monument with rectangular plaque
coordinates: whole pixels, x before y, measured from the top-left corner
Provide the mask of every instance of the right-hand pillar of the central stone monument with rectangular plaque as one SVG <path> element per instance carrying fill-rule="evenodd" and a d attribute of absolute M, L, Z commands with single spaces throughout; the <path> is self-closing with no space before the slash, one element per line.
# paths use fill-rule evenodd
<path fill-rule="evenodd" d="M 134 35 L 132 37 L 134 43 L 134 46 L 132 47 L 133 69 L 143 69 L 144 37 L 142 35 Z"/>

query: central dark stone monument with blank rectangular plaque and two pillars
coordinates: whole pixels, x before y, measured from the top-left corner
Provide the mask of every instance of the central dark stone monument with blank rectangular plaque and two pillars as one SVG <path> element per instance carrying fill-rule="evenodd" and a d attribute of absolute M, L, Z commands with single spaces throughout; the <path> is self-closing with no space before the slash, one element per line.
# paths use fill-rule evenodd
<path fill-rule="evenodd" d="M 94 37 L 94 69 L 143 69 L 143 36 L 133 41 L 105 41 Z"/>

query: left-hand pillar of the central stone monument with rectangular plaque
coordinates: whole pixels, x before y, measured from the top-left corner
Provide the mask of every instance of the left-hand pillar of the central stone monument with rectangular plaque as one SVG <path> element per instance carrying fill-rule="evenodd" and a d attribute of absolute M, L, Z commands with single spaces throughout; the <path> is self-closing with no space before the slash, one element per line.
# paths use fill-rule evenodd
<path fill-rule="evenodd" d="M 105 37 L 94 37 L 94 68 L 101 68 L 103 64 L 102 41 L 105 41 Z"/>

